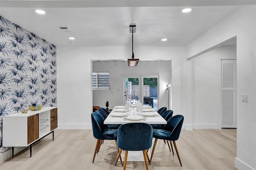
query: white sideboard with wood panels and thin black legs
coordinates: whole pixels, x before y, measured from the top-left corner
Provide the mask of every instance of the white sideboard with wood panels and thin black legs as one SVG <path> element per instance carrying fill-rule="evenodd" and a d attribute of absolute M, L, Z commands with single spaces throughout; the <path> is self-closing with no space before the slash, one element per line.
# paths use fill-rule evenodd
<path fill-rule="evenodd" d="M 2 145 L 12 147 L 30 146 L 32 156 L 32 144 L 52 133 L 58 127 L 57 107 L 43 107 L 40 111 L 28 111 L 28 113 L 14 113 L 6 115 L 2 120 Z"/>

